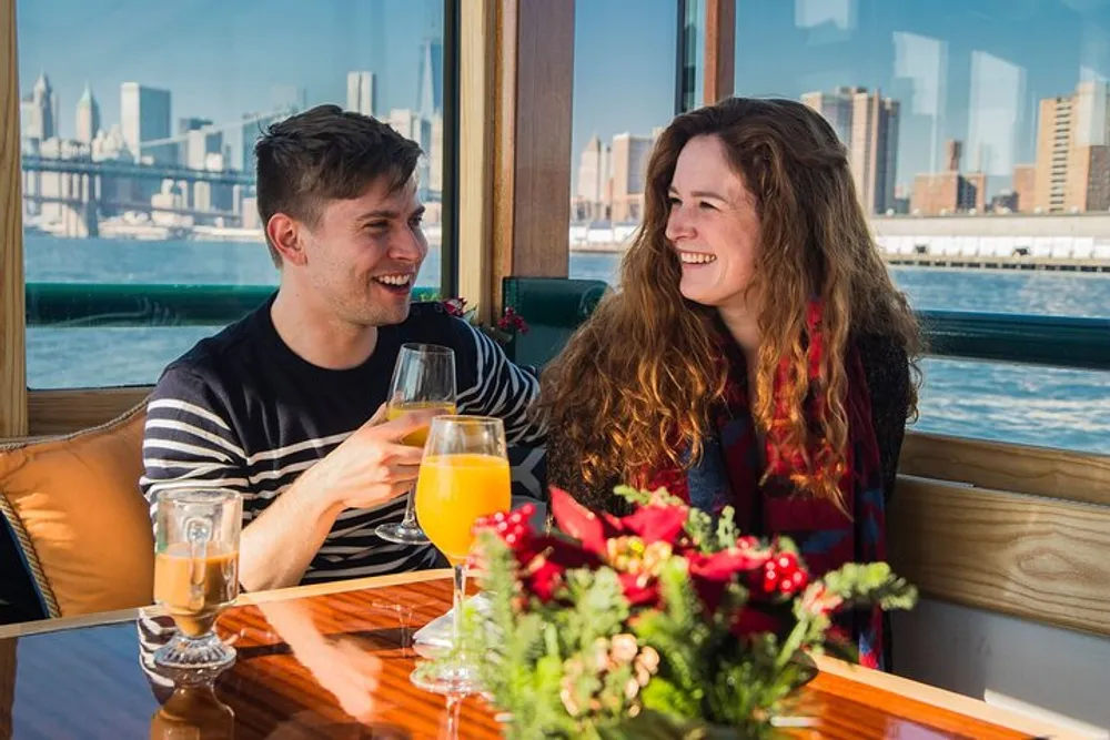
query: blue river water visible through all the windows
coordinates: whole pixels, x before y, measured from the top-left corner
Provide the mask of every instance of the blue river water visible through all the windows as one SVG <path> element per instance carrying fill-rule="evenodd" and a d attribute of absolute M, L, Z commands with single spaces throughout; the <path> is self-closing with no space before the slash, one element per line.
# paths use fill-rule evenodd
<path fill-rule="evenodd" d="M 265 246 L 204 242 L 60 240 L 28 235 L 28 282 L 276 285 Z M 618 256 L 572 253 L 571 276 L 614 282 Z M 436 285 L 440 252 L 420 285 Z M 1110 276 L 894 267 L 917 308 L 1110 316 Z M 526 318 L 526 317 L 525 317 Z M 28 331 L 34 388 L 142 385 L 212 327 Z M 926 359 L 914 428 L 1110 454 L 1110 373 Z"/>

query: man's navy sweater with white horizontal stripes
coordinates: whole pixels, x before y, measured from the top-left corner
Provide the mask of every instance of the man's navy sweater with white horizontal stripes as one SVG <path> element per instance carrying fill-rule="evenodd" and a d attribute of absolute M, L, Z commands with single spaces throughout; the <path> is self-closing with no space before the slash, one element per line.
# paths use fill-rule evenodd
<path fill-rule="evenodd" d="M 151 504 L 174 488 L 230 488 L 243 495 L 243 526 L 309 467 L 362 426 L 385 402 L 406 342 L 455 352 L 460 414 L 505 422 L 513 494 L 542 498 L 543 423 L 527 413 L 538 386 L 488 336 L 438 303 L 413 304 L 408 318 L 379 330 L 373 355 L 343 371 L 312 365 L 281 339 L 265 305 L 173 362 L 154 388 L 140 481 Z M 387 543 L 377 525 L 400 521 L 404 497 L 374 509 L 347 509 L 303 584 L 376 576 L 442 564 L 431 546 Z"/>

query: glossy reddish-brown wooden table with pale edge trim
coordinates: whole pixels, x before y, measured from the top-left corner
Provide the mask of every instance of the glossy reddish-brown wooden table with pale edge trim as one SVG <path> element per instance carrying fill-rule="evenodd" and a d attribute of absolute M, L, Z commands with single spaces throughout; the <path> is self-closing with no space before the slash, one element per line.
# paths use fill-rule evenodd
<path fill-rule="evenodd" d="M 179 693 L 185 724 L 160 731 L 172 691 L 140 662 L 138 611 L 0 628 L 0 739 L 438 738 L 446 700 L 408 682 L 411 635 L 450 607 L 447 571 L 244 596 L 218 630 L 239 651 L 213 703 Z M 1056 728 L 966 697 L 821 659 L 804 689 L 817 718 L 801 738 L 1062 738 Z M 500 737 L 478 698 L 455 706 L 458 738 Z M 232 719 L 233 714 L 233 719 Z M 153 732 L 152 732 L 153 730 Z M 180 730 L 178 730 L 180 732 Z"/>

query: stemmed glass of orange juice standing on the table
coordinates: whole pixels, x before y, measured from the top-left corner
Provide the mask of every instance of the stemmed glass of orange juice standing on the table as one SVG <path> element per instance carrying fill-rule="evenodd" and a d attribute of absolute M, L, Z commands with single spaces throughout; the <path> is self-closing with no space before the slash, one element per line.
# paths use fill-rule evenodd
<path fill-rule="evenodd" d="M 460 628 L 466 586 L 466 558 L 478 517 L 512 506 L 512 476 L 505 426 L 487 416 L 437 416 L 424 448 L 416 481 L 416 516 L 427 536 L 454 568 L 452 653 L 436 668 L 412 675 L 422 689 L 438 693 L 474 693 L 477 667 L 466 655 Z"/>

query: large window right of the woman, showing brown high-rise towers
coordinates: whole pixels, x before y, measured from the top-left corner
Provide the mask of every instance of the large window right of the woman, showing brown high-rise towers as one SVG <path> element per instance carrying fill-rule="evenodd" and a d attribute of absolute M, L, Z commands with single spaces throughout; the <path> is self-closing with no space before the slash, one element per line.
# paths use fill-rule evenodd
<path fill-rule="evenodd" d="M 1057 271 L 1110 268 L 1110 8 L 737 0 L 736 17 L 737 94 L 833 123 L 916 308 L 1110 316 L 1110 272 Z M 1039 270 L 985 268 L 1019 261 Z M 920 430 L 1110 453 L 1106 373 L 925 372 Z"/>

